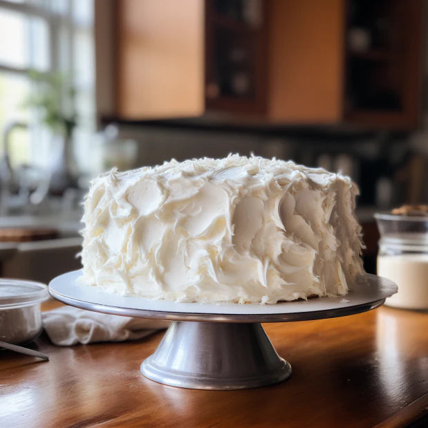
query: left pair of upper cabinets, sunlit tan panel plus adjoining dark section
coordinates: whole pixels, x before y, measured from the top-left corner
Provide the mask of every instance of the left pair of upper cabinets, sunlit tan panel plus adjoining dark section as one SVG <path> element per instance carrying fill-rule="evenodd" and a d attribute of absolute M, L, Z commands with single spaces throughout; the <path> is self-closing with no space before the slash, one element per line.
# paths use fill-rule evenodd
<path fill-rule="evenodd" d="M 120 118 L 266 111 L 266 7 L 261 1 L 116 3 Z"/>

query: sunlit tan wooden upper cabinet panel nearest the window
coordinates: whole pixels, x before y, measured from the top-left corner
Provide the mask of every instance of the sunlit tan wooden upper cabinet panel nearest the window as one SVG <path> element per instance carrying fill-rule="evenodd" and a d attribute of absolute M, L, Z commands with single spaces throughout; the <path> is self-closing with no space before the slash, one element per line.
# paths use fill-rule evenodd
<path fill-rule="evenodd" d="M 115 6 L 118 118 L 203 114 L 203 1 L 120 0 Z"/>

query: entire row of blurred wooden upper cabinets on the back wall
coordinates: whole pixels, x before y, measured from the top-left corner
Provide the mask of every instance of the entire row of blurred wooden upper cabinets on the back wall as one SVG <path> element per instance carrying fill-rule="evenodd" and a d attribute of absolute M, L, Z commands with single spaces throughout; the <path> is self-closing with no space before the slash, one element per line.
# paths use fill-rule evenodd
<path fill-rule="evenodd" d="M 390 129 L 418 122 L 422 0 L 112 4 L 110 116 Z"/>

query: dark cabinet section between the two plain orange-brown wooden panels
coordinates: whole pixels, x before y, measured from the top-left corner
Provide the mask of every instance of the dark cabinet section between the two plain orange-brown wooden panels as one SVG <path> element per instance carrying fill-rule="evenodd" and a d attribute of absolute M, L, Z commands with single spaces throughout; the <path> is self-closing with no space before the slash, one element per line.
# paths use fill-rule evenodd
<path fill-rule="evenodd" d="M 266 112 L 266 4 L 205 1 L 207 110 Z"/>

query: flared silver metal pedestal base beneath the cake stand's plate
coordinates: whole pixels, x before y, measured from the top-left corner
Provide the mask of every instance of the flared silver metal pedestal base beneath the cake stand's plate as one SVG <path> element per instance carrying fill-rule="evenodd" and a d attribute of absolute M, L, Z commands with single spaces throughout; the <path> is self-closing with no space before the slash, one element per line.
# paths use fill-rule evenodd
<path fill-rule="evenodd" d="M 142 374 L 162 384 L 192 389 L 247 389 L 291 375 L 260 323 L 174 321 Z"/>

